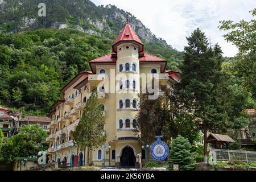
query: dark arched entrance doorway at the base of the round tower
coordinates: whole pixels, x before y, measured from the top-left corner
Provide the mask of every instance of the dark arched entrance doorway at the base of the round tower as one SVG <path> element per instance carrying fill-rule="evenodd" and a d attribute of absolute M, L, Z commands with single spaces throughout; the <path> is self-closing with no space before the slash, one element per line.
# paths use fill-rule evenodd
<path fill-rule="evenodd" d="M 131 148 L 130 146 L 126 146 L 125 148 L 123 148 L 120 162 L 122 167 L 129 168 L 135 166 L 136 157 L 134 155 L 133 148 Z"/>

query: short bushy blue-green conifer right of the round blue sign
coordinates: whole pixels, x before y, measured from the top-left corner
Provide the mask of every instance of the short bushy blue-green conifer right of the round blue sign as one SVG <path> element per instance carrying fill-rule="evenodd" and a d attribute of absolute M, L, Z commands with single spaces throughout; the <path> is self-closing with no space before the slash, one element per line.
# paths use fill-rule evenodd
<path fill-rule="evenodd" d="M 172 170 L 174 164 L 179 164 L 181 171 L 195 169 L 195 156 L 191 152 L 191 144 L 187 138 L 177 137 L 172 141 L 171 152 L 168 156 L 168 169 Z"/>

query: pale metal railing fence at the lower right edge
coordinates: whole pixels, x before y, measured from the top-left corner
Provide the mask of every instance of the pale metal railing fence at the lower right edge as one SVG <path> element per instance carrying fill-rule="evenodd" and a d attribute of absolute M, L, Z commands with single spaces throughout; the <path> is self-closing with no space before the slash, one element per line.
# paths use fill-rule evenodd
<path fill-rule="evenodd" d="M 256 152 L 238 151 L 238 150 L 221 150 L 210 149 L 213 161 L 228 161 L 228 162 L 256 162 Z"/>

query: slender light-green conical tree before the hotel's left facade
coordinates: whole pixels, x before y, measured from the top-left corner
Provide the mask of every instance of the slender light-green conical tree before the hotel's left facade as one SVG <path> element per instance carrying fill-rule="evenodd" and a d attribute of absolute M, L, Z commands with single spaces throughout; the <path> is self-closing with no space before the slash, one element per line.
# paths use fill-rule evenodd
<path fill-rule="evenodd" d="M 83 148 L 84 151 L 86 148 L 88 149 L 87 164 L 89 164 L 89 151 L 102 146 L 106 141 L 104 125 L 102 106 L 98 104 L 97 89 L 94 89 L 86 102 L 79 125 L 73 134 L 76 144 Z"/>

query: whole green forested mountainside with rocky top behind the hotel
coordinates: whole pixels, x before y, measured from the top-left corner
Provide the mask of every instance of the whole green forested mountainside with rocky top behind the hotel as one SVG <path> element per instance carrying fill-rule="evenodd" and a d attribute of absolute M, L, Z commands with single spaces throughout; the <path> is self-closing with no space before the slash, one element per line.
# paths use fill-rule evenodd
<path fill-rule="evenodd" d="M 47 16 L 38 16 L 46 3 Z M 88 62 L 111 52 L 126 16 L 147 52 L 179 71 L 183 53 L 156 38 L 130 13 L 89 0 L 0 1 L 0 104 L 29 115 L 46 115 L 59 90 Z"/>

